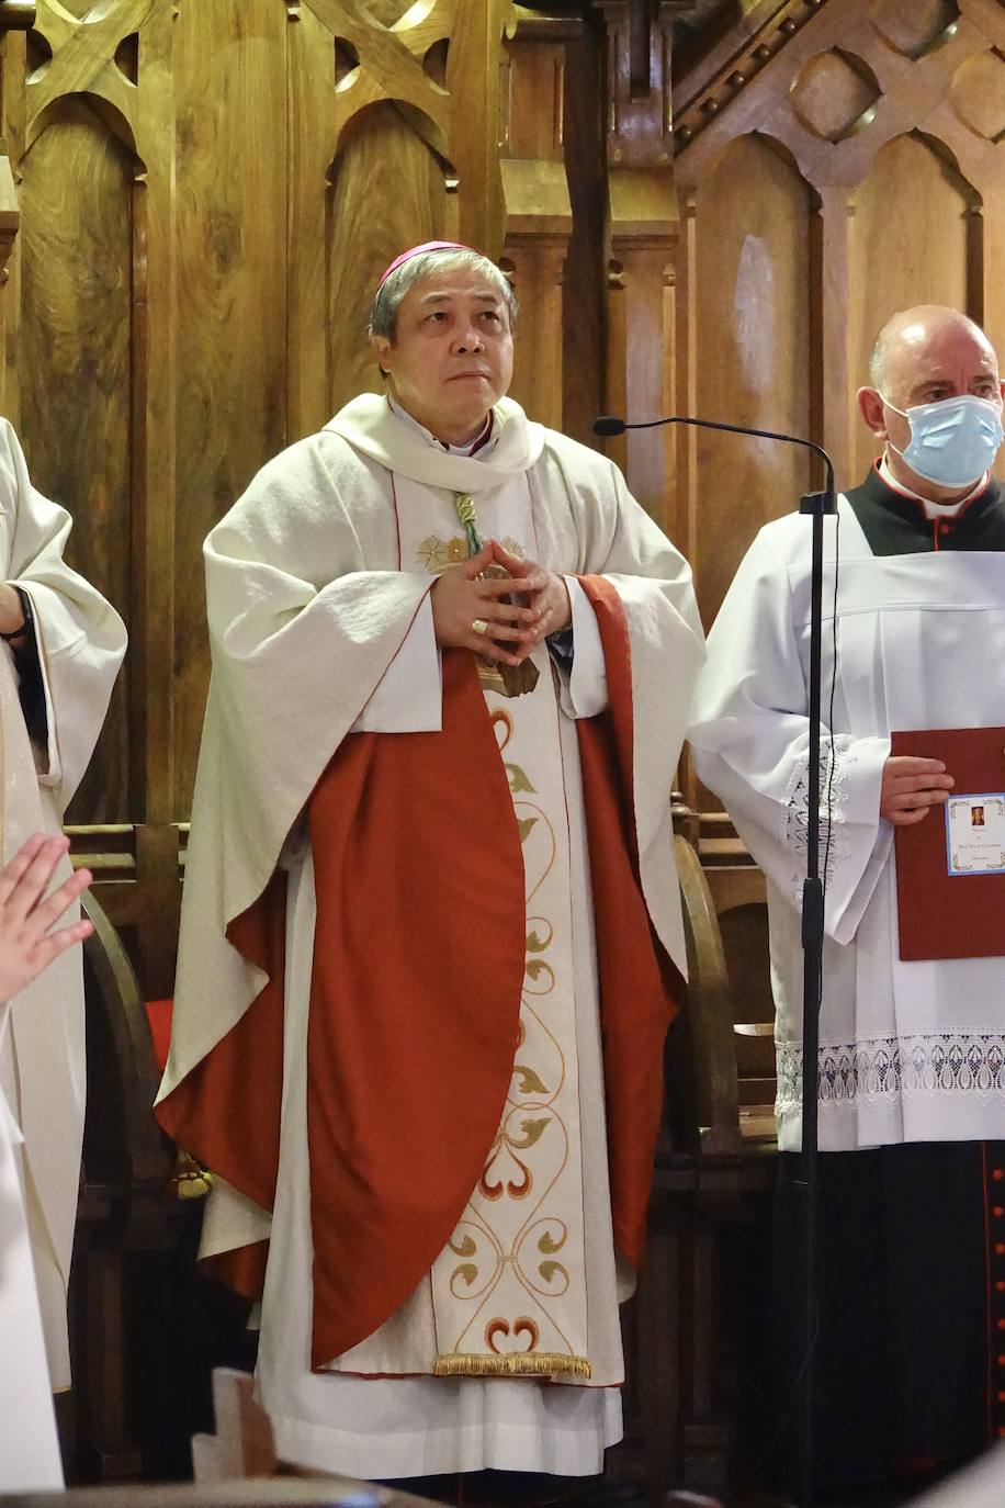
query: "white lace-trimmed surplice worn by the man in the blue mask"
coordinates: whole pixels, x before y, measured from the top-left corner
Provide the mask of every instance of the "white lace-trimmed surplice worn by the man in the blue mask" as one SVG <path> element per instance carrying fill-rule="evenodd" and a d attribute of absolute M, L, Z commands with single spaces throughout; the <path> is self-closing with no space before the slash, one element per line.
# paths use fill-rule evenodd
<path fill-rule="evenodd" d="M 820 1015 L 820 1146 L 1005 1137 L 1005 959 L 901 962 L 894 829 L 880 819 L 890 733 L 1002 722 L 1000 553 L 875 556 L 838 499 L 833 777 Z M 823 718 L 833 670 L 835 519 L 824 528 Z M 800 896 L 806 872 L 809 522 L 767 525 L 708 639 L 689 731 L 767 878 L 779 1146 L 802 1139 Z M 942 822 L 936 810 L 927 822 Z"/>

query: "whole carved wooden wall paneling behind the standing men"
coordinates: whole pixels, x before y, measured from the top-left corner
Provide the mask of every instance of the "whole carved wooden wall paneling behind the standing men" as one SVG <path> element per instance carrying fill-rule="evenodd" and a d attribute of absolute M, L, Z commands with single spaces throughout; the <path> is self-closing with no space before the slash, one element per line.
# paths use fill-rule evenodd
<path fill-rule="evenodd" d="M 514 394 L 588 443 L 598 412 L 702 413 L 806 433 L 854 483 L 872 446 L 853 395 L 889 314 L 952 303 L 1005 345 L 997 0 L 553 12 L 38 0 L 3 41 L 0 407 L 130 626 L 69 820 L 151 994 L 170 991 L 206 691 L 202 540 L 375 386 L 363 326 L 402 246 L 503 258 Z M 800 451 L 693 430 L 610 454 L 707 621 L 815 481 Z"/>

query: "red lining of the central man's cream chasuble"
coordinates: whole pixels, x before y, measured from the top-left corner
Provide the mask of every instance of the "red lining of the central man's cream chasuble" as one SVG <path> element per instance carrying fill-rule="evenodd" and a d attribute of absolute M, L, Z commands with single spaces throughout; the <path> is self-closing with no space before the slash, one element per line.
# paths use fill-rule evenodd
<path fill-rule="evenodd" d="M 639 885 L 628 629 L 603 578 L 610 712 L 577 724 L 588 814 L 613 1229 L 639 1265 L 680 976 Z M 667 793 L 669 795 L 669 793 Z M 517 1045 L 520 835 L 475 661 L 443 654 L 443 731 L 353 734 L 309 804 L 318 924 L 307 1041 L 312 1365 L 372 1335 L 446 1246 L 499 1126 Z M 270 982 L 158 1107 L 161 1125 L 271 1208 L 282 1104 L 285 876 L 228 929 Z M 249 1107 L 255 1107 L 253 1114 Z M 212 1259 L 261 1294 L 265 1243 Z"/>

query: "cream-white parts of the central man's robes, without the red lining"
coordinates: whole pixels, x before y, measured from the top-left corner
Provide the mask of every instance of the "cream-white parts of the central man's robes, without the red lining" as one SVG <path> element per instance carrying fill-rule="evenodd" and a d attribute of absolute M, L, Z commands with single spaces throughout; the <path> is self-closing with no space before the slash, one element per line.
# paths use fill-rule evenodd
<path fill-rule="evenodd" d="M 356 398 L 255 478 L 205 550 L 214 670 L 160 1102 L 172 1119 L 175 1090 L 262 989 L 264 973 L 226 930 L 285 867 L 274 1203 L 259 1206 L 215 1178 L 202 1250 L 270 1240 L 258 1383 L 279 1452 L 363 1478 L 484 1467 L 588 1475 L 621 1439 L 619 1279 L 576 728 L 607 694 L 597 620 L 576 576 L 604 576 L 625 614 L 640 884 L 657 936 L 686 967 L 669 792 L 702 659 L 690 572 L 603 455 L 533 424 L 511 400 L 496 404 L 493 424 L 478 457 L 448 454 L 384 398 Z M 497 724 L 499 759 L 520 771 L 509 784 L 526 835 L 523 1041 L 496 1145 L 484 1148 L 478 1188 L 460 1228 L 444 1231 L 441 1256 L 396 1313 L 312 1371 L 306 1075 L 316 893 L 298 816 L 356 731 L 407 737 L 441 727 L 429 588 L 469 553 L 457 493 L 475 499 L 484 538 L 570 573 L 571 670 L 538 645 L 533 694 L 505 698 L 482 683 L 490 710 L 511 719 Z M 518 789 L 524 783 L 533 789 Z M 446 973 L 449 936 L 440 946 Z M 399 1036 L 407 1054 L 404 1000 Z M 466 1092 L 428 1084 L 431 1098 L 458 1104 Z M 243 1102 L 220 1110 L 244 1113 Z M 172 1119 L 182 1143 L 184 1119 Z M 401 1148 L 405 1166 L 410 1151 Z M 533 1371 L 517 1353 L 529 1353 L 535 1335 L 548 1371 L 506 1375 Z M 435 1375 L 437 1360 L 457 1375 Z M 503 1375 L 464 1375 L 500 1366 Z"/>

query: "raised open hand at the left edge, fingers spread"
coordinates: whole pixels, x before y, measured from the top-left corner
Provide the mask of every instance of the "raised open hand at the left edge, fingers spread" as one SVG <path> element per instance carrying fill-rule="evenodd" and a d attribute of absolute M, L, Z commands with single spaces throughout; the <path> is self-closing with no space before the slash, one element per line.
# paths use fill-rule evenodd
<path fill-rule="evenodd" d="M 90 870 L 80 869 L 45 896 L 68 847 L 66 837 L 36 832 L 0 869 L 0 1001 L 11 1000 L 60 953 L 93 932 L 89 921 L 50 930 L 92 881 Z"/>

